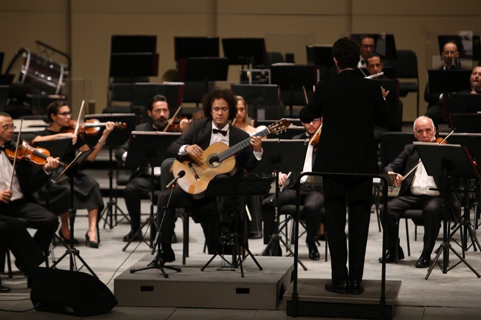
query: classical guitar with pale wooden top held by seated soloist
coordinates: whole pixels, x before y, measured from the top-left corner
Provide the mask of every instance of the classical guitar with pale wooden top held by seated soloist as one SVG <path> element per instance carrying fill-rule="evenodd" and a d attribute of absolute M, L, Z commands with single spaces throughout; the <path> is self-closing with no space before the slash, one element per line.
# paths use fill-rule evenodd
<path fill-rule="evenodd" d="M 282 119 L 260 131 L 256 136 L 264 137 L 268 134 L 278 133 L 289 127 L 290 123 Z M 228 147 L 222 142 L 216 142 L 204 150 L 201 158 L 183 156 L 175 159 L 172 164 L 172 173 L 177 176 L 180 171 L 185 175 L 177 180 L 177 185 L 187 193 L 199 194 L 207 189 L 207 185 L 216 175 L 230 172 L 235 166 L 234 155 L 240 150 L 251 145 L 251 137 Z"/>

